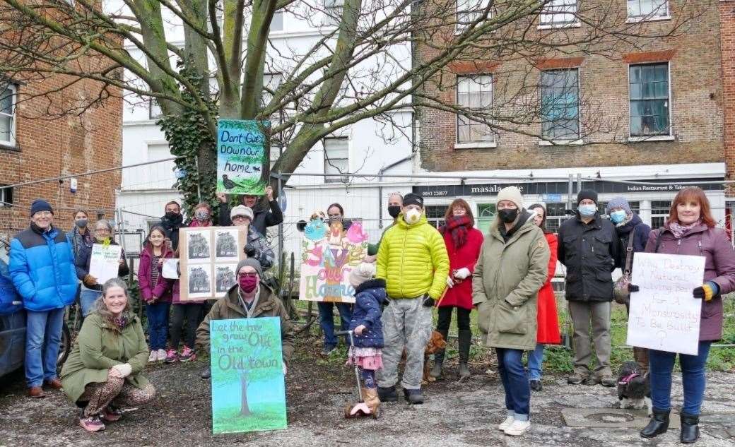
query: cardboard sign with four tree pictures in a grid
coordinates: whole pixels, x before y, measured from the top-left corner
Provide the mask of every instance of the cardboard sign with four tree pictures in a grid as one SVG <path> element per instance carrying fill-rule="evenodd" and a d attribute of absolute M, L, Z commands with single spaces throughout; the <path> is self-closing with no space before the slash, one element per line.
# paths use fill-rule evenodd
<path fill-rule="evenodd" d="M 179 299 L 202 301 L 223 297 L 237 282 L 237 263 L 245 259 L 248 227 L 179 229 Z"/>

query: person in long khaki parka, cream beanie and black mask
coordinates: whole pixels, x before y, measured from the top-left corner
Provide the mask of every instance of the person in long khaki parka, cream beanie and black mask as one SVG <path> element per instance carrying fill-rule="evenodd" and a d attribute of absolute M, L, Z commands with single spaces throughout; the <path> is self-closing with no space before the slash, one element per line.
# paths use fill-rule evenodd
<path fill-rule="evenodd" d="M 531 428 L 531 388 L 523 351 L 536 348 L 537 294 L 548 275 L 549 246 L 515 186 L 498 193 L 498 216 L 472 276 L 482 340 L 498 354 L 508 415 L 498 429 L 520 436 Z"/>

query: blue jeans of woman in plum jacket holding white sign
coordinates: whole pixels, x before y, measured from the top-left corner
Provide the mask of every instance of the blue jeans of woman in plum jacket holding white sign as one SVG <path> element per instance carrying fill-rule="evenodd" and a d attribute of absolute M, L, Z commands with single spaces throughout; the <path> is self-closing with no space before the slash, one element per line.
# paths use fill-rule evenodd
<path fill-rule="evenodd" d="M 707 377 L 704 368 L 709 357 L 711 341 L 699 342 L 698 355 L 679 354 L 681 364 L 681 382 L 684 387 L 684 406 L 681 412 L 698 416 Z M 650 400 L 656 410 L 671 410 L 671 371 L 674 369 L 675 352 L 664 352 L 650 349 Z"/>

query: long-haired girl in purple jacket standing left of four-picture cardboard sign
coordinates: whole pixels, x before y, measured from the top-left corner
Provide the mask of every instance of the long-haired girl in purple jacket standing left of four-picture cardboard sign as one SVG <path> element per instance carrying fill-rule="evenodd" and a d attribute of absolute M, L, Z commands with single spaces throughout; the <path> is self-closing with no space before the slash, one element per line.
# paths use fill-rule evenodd
<path fill-rule="evenodd" d="M 146 244 L 140 252 L 138 285 L 140 298 L 146 302 L 148 316 L 148 339 L 151 355 L 149 362 L 166 360 L 166 338 L 168 338 L 168 310 L 171 308 L 172 282 L 162 275 L 165 258 L 172 258 L 173 251 L 165 240 L 165 230 L 158 225 L 151 228 Z"/>

